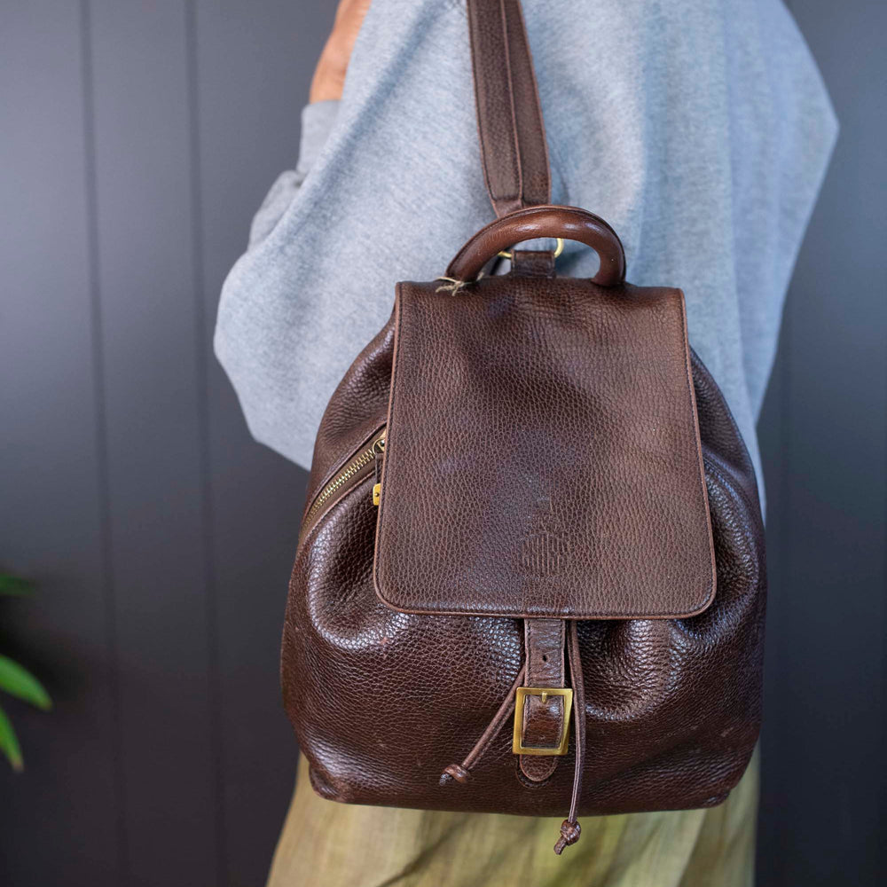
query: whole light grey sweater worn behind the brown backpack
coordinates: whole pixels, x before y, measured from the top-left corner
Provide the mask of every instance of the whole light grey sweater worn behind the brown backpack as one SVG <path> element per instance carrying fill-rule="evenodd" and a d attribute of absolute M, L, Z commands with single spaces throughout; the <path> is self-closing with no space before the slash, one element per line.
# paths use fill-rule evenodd
<path fill-rule="evenodd" d="M 401 279 L 443 273 L 489 222 L 464 0 L 373 0 L 341 103 L 225 281 L 216 355 L 255 438 L 310 466 L 335 386 Z M 779 0 L 525 0 L 553 202 L 624 241 L 628 279 L 683 288 L 690 340 L 758 465 L 755 421 L 792 266 L 836 138 Z M 594 273 L 569 244 L 559 272 Z M 760 471 L 758 471 L 760 476 Z"/>

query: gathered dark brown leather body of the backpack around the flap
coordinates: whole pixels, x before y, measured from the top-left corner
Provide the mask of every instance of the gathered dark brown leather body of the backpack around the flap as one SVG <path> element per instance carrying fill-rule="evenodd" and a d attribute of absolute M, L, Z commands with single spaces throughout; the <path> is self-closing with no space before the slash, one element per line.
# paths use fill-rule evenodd
<path fill-rule="evenodd" d="M 363 427 L 385 422 L 392 327 L 330 401 L 309 500 L 326 475 L 321 466 L 344 461 L 359 436 L 356 400 Z M 757 740 L 766 593 L 757 484 L 718 387 L 695 356 L 692 368 L 718 592 L 699 616 L 578 624 L 587 736 L 580 815 L 718 804 Z M 302 539 L 294 563 L 281 671 L 314 788 L 358 804 L 562 815 L 572 741 L 552 777 L 533 788 L 518 776 L 506 727 L 467 784 L 439 784 L 522 670 L 523 623 L 386 607 L 373 587 L 372 485 L 371 475 L 344 495 Z"/>

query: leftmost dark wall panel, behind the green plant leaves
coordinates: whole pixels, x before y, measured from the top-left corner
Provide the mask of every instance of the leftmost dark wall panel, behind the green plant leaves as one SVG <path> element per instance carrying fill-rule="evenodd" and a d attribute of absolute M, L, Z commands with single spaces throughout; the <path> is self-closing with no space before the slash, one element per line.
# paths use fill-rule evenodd
<path fill-rule="evenodd" d="M 26 765 L 0 758 L 0 883 L 119 884 L 87 41 L 76 3 L 4 4 L 2 19 L 0 568 L 38 590 L 0 598 L 0 652 L 55 709 L 0 701 Z"/>

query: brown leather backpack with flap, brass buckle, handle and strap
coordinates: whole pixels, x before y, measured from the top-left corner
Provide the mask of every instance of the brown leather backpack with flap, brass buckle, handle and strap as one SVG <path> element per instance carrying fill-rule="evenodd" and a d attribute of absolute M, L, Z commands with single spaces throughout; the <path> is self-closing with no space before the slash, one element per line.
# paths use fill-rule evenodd
<path fill-rule="evenodd" d="M 520 3 L 468 13 L 499 217 L 443 278 L 398 285 L 327 407 L 283 689 L 321 796 L 569 806 L 561 852 L 580 812 L 716 805 L 739 781 L 760 721 L 764 535 L 683 294 L 624 283 L 608 224 L 549 205 Z M 558 278 L 551 251 L 525 249 L 482 276 L 536 238 L 581 241 L 600 270 Z"/>

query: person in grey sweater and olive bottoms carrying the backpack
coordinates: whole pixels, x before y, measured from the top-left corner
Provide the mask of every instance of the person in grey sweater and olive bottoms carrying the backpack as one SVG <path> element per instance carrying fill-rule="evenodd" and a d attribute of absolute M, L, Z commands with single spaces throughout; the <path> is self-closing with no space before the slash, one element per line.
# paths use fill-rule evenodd
<path fill-rule="evenodd" d="M 690 341 L 760 478 L 755 422 L 837 133 L 802 36 L 780 0 L 523 5 L 553 202 L 613 225 L 632 283 L 684 289 Z M 464 0 L 342 0 L 298 163 L 271 187 L 219 305 L 216 355 L 253 436 L 309 467 L 326 402 L 396 281 L 434 279 L 490 220 Z M 558 263 L 594 273 L 577 244 Z M 723 805 L 586 818 L 562 858 L 553 820 L 336 805 L 302 771 L 271 887 L 753 880 L 756 759 Z"/>

